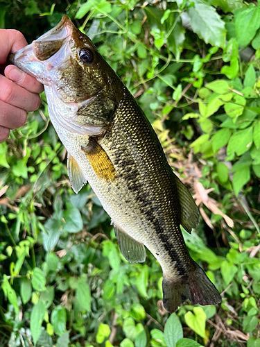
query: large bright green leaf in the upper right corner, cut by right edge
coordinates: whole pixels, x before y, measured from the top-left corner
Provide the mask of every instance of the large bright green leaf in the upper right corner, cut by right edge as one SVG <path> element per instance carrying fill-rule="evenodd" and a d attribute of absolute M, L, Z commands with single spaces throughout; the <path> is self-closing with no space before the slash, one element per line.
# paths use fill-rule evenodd
<path fill-rule="evenodd" d="M 241 46 L 248 46 L 260 28 L 260 7 L 250 4 L 248 8 L 235 11 L 236 40 Z"/>

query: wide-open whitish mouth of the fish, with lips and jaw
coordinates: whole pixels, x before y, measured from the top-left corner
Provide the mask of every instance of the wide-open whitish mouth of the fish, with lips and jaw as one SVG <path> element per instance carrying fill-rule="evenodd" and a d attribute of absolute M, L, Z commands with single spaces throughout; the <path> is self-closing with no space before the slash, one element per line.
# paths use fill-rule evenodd
<path fill-rule="evenodd" d="M 69 40 L 74 30 L 73 23 L 64 15 L 57 26 L 23 49 L 10 54 L 8 62 L 35 77 L 40 83 L 50 86 L 53 83 L 50 71 L 55 67 L 65 68 L 69 64 Z"/>

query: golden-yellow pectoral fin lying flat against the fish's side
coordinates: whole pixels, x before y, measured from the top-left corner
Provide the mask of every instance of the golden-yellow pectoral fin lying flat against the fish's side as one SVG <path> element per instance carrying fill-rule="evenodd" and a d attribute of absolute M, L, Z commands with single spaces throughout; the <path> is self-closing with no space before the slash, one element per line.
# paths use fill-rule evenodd
<path fill-rule="evenodd" d="M 105 180 L 105 182 L 110 182 L 116 178 L 116 170 L 110 158 L 95 139 L 90 137 L 89 144 L 82 149 L 98 178 Z"/>

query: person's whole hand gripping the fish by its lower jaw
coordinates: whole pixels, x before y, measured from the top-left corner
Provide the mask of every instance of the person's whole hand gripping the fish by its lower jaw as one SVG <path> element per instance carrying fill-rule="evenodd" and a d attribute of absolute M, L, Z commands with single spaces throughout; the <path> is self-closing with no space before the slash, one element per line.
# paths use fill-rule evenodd
<path fill-rule="evenodd" d="M 39 93 L 44 90 L 43 85 L 14 65 L 6 67 L 8 54 L 26 45 L 19 31 L 0 29 L 0 143 L 8 138 L 10 129 L 24 125 L 26 112 L 40 106 Z"/>

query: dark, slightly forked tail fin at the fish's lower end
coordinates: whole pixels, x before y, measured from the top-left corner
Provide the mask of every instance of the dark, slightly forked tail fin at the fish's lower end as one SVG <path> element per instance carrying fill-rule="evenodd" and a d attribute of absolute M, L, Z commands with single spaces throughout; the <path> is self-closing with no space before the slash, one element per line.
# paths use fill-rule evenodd
<path fill-rule="evenodd" d="M 162 281 L 164 294 L 164 308 L 168 312 L 175 312 L 184 301 L 191 301 L 192 305 L 216 305 L 221 302 L 221 296 L 205 272 L 195 264 L 195 269 L 182 278 Z"/>

